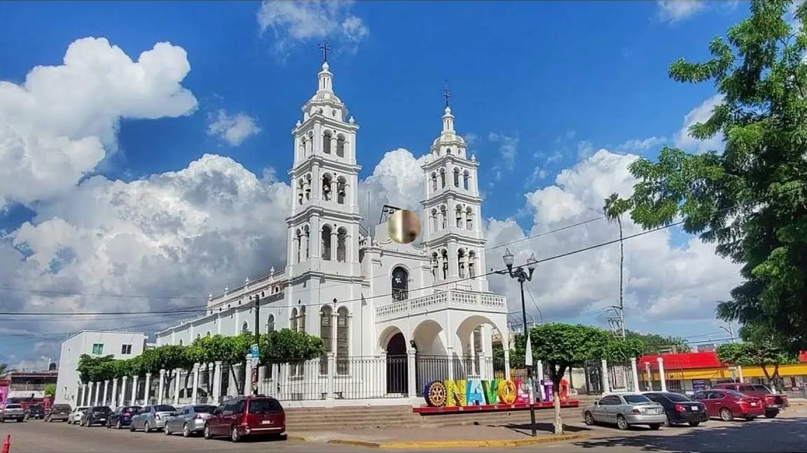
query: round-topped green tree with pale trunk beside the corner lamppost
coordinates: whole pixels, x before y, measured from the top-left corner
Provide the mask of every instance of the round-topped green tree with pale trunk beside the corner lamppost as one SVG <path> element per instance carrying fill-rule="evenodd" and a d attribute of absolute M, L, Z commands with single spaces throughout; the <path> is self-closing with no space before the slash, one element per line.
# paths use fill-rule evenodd
<path fill-rule="evenodd" d="M 529 338 L 533 359 L 543 361 L 552 380 L 554 433 L 563 434 L 558 395 L 560 381 L 569 368 L 582 366 L 587 360 L 600 359 L 608 344 L 613 342 L 613 334 L 591 326 L 550 323 L 533 327 Z"/>

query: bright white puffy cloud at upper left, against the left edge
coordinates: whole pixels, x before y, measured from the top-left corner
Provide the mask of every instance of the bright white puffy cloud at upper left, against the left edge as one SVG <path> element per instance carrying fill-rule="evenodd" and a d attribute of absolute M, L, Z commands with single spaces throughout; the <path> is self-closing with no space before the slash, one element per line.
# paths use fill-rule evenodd
<path fill-rule="evenodd" d="M 121 118 L 192 113 L 184 49 L 155 44 L 134 61 L 104 38 L 70 44 L 60 66 L 37 66 L 21 85 L 0 81 L 0 209 L 72 187 L 115 151 Z"/>

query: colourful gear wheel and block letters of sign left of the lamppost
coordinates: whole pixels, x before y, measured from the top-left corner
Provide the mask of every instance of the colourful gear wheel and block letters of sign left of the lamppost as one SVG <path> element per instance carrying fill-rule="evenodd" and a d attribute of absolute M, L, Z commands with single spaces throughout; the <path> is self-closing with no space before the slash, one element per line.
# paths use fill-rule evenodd
<path fill-rule="evenodd" d="M 521 380 L 433 380 L 423 392 L 431 407 L 529 404 L 529 389 Z"/>

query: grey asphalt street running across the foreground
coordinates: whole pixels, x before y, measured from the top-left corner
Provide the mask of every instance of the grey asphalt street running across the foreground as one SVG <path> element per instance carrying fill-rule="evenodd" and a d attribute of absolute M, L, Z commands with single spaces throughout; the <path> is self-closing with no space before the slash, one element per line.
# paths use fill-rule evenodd
<path fill-rule="evenodd" d="M 571 422 L 570 430 L 583 429 L 579 423 Z M 548 426 L 541 426 L 547 428 Z M 451 428 L 451 430 L 474 430 L 473 426 Z M 477 427 L 477 430 L 479 428 Z M 417 430 L 412 430 L 415 440 Z M 199 453 L 214 451 L 290 451 L 290 452 L 333 452 L 368 451 L 366 447 L 348 447 L 324 443 L 254 441 L 233 444 L 228 440 L 204 440 L 203 438 L 167 437 L 160 432 L 130 433 L 128 430 L 107 430 L 102 427 L 82 428 L 65 423 L 4 423 L 0 425 L 0 436 L 5 439 L 11 434 L 10 453 L 92 453 L 117 451 L 119 453 L 158 453 L 194 451 Z M 349 431 L 344 434 L 349 434 Z M 697 428 L 675 427 L 650 431 L 635 428 L 621 432 L 615 428 L 597 426 L 590 431 L 590 438 L 532 445 L 529 447 L 485 448 L 491 453 L 505 451 L 547 451 L 550 453 L 590 453 L 592 451 L 658 451 L 675 453 L 730 453 L 742 451 L 797 452 L 807 451 L 807 412 L 791 411 L 787 416 L 776 419 L 758 419 L 754 422 L 724 423 L 712 420 Z M 467 436 L 462 436 L 467 438 Z M 0 439 L 0 442 L 2 442 Z M 440 451 L 445 449 L 441 448 Z M 466 449 L 470 450 L 470 449 Z M 478 448 L 474 448 L 478 450 Z"/>

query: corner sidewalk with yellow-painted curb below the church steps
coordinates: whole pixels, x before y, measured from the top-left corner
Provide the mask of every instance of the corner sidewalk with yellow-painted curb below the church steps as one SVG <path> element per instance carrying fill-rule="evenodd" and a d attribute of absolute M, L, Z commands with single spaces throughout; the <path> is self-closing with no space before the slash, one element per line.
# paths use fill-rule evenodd
<path fill-rule="evenodd" d="M 552 434 L 552 426 L 538 423 L 532 437 L 529 425 L 456 426 L 451 428 L 378 428 L 341 433 L 291 433 L 289 440 L 312 443 L 338 443 L 383 449 L 522 447 L 538 443 L 563 442 L 588 437 L 588 430 L 565 426 L 565 434 Z"/>

